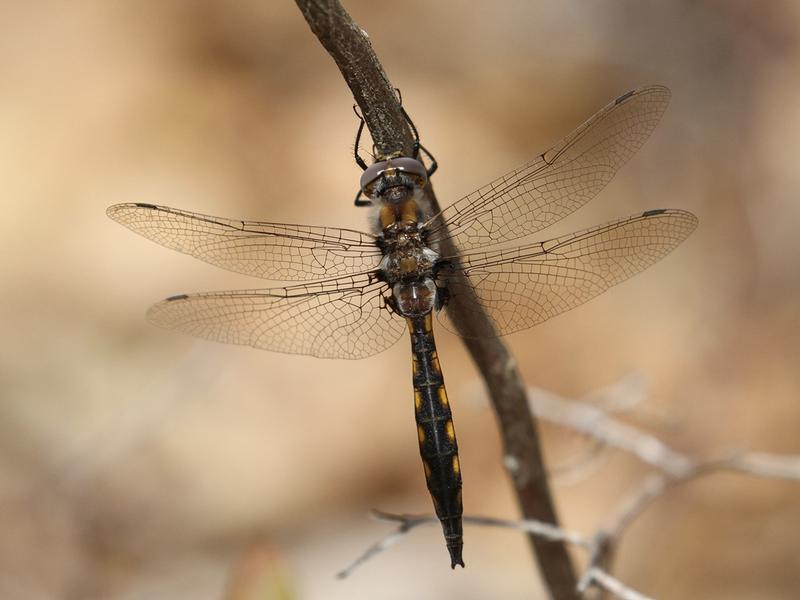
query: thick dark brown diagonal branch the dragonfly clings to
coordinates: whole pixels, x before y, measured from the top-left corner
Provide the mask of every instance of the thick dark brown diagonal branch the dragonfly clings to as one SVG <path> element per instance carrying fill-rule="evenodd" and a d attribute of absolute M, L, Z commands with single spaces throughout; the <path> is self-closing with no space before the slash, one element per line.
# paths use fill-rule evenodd
<path fill-rule="evenodd" d="M 403 118 L 399 100 L 378 61 L 366 33 L 356 25 L 338 0 L 296 0 L 311 30 L 336 62 L 364 115 L 379 154 L 401 151 L 409 155 L 413 139 Z M 433 213 L 439 211 L 433 189 L 426 189 Z M 443 252 L 456 255 L 454 248 Z M 468 332 L 474 324 L 457 302 L 450 314 L 459 331 Z M 491 329 L 489 319 L 479 324 Z M 467 348 L 475 361 L 500 425 L 506 467 L 526 519 L 558 524 L 555 504 L 550 494 L 536 425 L 528 408 L 525 388 L 516 363 L 498 338 L 467 338 Z M 557 599 L 576 598 L 577 577 L 563 542 L 549 541 L 534 535 L 528 539 L 535 551 L 543 579 L 550 594 Z"/>

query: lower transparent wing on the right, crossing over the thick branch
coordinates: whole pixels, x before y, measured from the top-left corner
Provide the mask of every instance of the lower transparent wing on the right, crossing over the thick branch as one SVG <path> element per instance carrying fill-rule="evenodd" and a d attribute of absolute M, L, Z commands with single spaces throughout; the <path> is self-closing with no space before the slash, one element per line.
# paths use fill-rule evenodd
<path fill-rule="evenodd" d="M 467 337 L 491 336 L 476 324 L 481 319 L 470 318 L 480 305 L 499 335 L 533 327 L 656 263 L 696 226 L 692 213 L 650 210 L 546 242 L 466 254 L 460 264 L 467 279 L 451 274 L 442 283 L 450 302 L 464 306 L 471 330 L 457 332 L 446 310 L 439 320 Z"/>

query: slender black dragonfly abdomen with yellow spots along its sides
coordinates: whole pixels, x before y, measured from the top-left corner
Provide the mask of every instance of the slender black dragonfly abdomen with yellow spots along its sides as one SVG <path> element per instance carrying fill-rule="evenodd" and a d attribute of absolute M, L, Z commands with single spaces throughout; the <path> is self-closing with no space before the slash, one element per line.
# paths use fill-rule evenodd
<path fill-rule="evenodd" d="M 451 566 L 455 568 L 464 566 L 461 558 L 461 465 L 431 320 L 430 313 L 407 319 L 414 371 L 414 414 L 425 480 L 436 516 L 442 523 Z"/>

